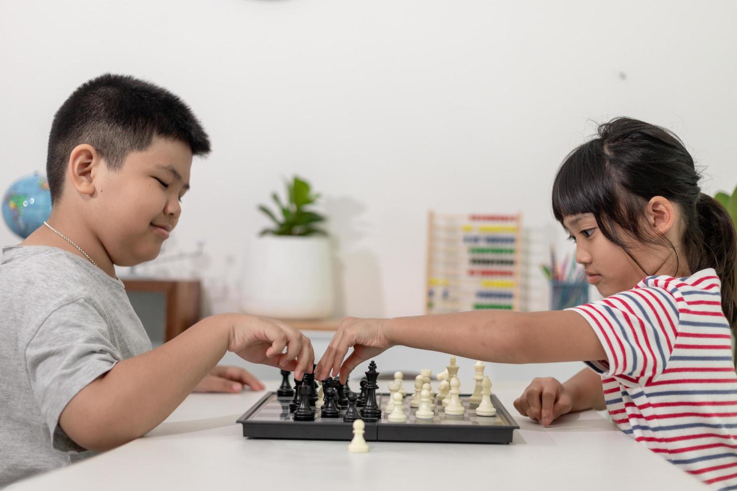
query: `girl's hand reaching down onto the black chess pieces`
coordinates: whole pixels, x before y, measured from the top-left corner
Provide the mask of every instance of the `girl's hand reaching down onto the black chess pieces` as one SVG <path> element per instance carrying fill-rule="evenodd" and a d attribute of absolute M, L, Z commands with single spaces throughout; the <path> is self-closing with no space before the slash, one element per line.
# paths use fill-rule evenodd
<path fill-rule="evenodd" d="M 386 322 L 387 319 L 344 317 L 315 368 L 315 378 L 323 380 L 332 372 L 334 376 L 340 374 L 340 382 L 345 384 L 357 365 L 392 346 L 386 333 Z M 353 347 L 353 353 L 343 361 L 349 347 Z"/>

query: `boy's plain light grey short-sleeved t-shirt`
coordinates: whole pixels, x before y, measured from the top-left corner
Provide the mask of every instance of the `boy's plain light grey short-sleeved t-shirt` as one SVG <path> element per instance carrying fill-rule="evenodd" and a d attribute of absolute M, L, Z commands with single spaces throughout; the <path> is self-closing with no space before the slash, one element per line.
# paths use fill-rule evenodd
<path fill-rule="evenodd" d="M 60 428 L 61 411 L 118 361 L 150 349 L 122 281 L 56 247 L 4 247 L 0 487 L 91 456 Z"/>

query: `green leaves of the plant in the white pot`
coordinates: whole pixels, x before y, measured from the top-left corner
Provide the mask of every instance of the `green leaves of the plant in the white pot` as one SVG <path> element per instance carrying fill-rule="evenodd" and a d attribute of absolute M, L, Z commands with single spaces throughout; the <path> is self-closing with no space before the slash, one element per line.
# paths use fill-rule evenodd
<path fill-rule="evenodd" d="M 278 194 L 271 194 L 271 199 L 277 207 L 276 213 L 273 213 L 265 205 L 259 205 L 259 210 L 268 216 L 275 225 L 261 230 L 259 236 L 326 236 L 327 233 L 324 230 L 315 227 L 315 224 L 324 222 L 325 217 L 305 209 L 307 205 L 314 204 L 320 194 L 312 194 L 310 183 L 296 176 L 293 177 L 291 182 L 287 181 L 285 185 L 287 187 L 286 203 L 282 202 Z"/>

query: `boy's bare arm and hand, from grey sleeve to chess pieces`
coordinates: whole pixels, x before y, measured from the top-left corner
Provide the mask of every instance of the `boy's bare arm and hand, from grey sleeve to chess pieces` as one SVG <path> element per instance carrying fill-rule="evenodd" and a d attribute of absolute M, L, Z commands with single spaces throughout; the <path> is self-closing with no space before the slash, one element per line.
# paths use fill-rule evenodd
<path fill-rule="evenodd" d="M 298 378 L 314 359 L 309 339 L 281 322 L 234 314 L 209 317 L 155 350 L 119 361 L 77 392 L 59 425 L 89 450 L 130 442 L 166 419 L 226 350 L 295 370 Z"/>

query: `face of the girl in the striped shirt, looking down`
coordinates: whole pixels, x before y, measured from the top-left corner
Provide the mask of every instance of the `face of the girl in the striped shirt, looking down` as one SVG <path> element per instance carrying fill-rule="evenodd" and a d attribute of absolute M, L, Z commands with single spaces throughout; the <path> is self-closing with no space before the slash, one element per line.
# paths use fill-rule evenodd
<path fill-rule="evenodd" d="M 642 244 L 627 244 L 645 271 L 640 269 L 624 249 L 604 237 L 593 213 L 566 216 L 563 227 L 576 242 L 576 262 L 584 266 L 588 282 L 604 297 L 632 289 L 648 275 L 672 274 L 661 271 L 667 259 L 663 251 Z"/>

